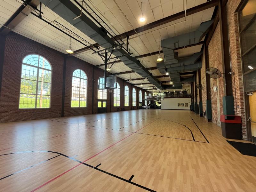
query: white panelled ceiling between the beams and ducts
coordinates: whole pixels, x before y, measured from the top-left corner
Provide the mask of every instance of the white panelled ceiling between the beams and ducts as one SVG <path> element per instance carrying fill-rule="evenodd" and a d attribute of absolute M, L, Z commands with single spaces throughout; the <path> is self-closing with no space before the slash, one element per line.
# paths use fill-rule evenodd
<path fill-rule="evenodd" d="M 141 1 L 142 1 L 142 11 L 143 15 L 146 18 L 145 22 L 140 22 L 139 18 L 141 16 Z M 186 8 L 194 7 L 198 4 L 205 3 L 207 0 L 187 0 Z M 88 4 L 91 3 L 91 6 L 101 18 L 110 25 L 115 33 L 121 34 L 126 31 L 130 31 L 133 28 L 138 28 L 140 26 L 146 25 L 153 21 L 162 19 L 164 17 L 170 16 L 177 12 L 185 10 L 186 0 L 86 0 Z M 115 3 L 116 2 L 116 3 Z M 22 1 L 20 0 L 0 0 L 0 24 L 3 25 L 12 14 L 19 8 Z M 122 12 L 119 10 L 122 10 Z M 184 18 L 172 21 L 170 23 L 158 26 L 157 28 L 152 28 L 141 32 L 139 34 L 133 35 L 130 37 L 129 43 L 131 52 L 133 56 L 138 56 L 141 54 L 146 54 L 150 52 L 159 51 L 159 45 L 162 39 L 169 38 L 172 36 L 177 36 L 184 31 L 189 32 L 193 31 L 199 27 L 201 22 L 210 20 L 212 17 L 214 7 L 204 10 L 202 12 L 197 12 L 195 14 L 189 15 L 186 17 L 186 22 L 173 25 L 175 23 L 184 21 Z M 45 6 L 42 6 L 42 12 L 44 12 L 44 19 L 49 21 L 58 21 L 65 27 L 67 27 L 72 32 L 81 36 L 83 39 L 88 41 L 90 44 L 95 44 L 92 39 L 84 35 L 81 31 L 74 28 L 67 21 L 62 19 L 56 13 L 51 11 Z M 125 16 L 124 16 L 125 15 Z M 129 23 L 129 22 L 130 23 Z M 48 47 L 56 49 L 60 52 L 66 53 L 66 49 L 70 43 L 70 37 L 63 34 L 58 29 L 50 26 L 44 21 L 36 18 L 34 15 L 29 14 L 24 20 L 22 20 L 15 28 L 16 33 L 19 33 L 23 36 L 26 36 L 30 39 L 33 39 L 41 44 L 44 44 Z M 73 50 L 78 50 L 85 47 L 83 44 L 71 40 L 71 46 Z M 185 49 L 178 50 L 179 57 L 187 57 L 192 55 L 195 52 L 201 50 L 202 45 L 188 47 Z M 161 48 L 160 48 L 161 50 Z M 164 55 L 162 54 L 162 57 Z M 97 54 L 92 54 L 92 51 L 83 52 L 76 57 L 87 61 L 93 65 L 102 64 L 103 61 Z M 114 57 L 114 56 L 113 56 Z M 143 60 L 140 58 L 140 62 L 143 63 L 143 66 L 146 68 L 156 67 L 156 59 L 158 55 L 144 57 Z M 113 60 L 110 60 L 110 62 Z M 109 66 L 110 67 L 110 66 Z M 104 67 L 100 67 L 104 68 Z M 123 62 L 115 63 L 111 67 L 111 73 L 119 73 L 124 71 L 131 70 L 124 65 Z M 162 75 L 157 69 L 150 70 L 154 76 Z M 130 74 L 119 75 L 123 79 L 129 79 Z M 140 78 L 141 76 L 132 73 L 131 78 Z M 159 79 L 160 80 L 160 79 Z M 161 78 L 162 80 L 162 78 Z M 170 78 L 165 77 L 164 81 L 170 80 Z M 147 83 L 148 81 L 143 80 L 142 83 Z M 132 81 L 130 83 L 137 84 L 141 83 Z M 145 86 L 153 86 L 148 84 Z"/>

